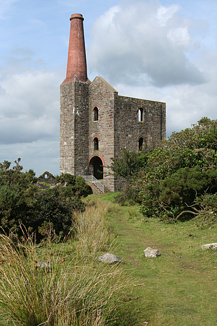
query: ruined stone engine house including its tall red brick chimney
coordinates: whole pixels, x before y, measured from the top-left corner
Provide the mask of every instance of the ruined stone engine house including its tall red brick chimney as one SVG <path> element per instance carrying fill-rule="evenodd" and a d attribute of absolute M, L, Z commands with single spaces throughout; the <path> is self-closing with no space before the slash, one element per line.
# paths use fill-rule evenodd
<path fill-rule="evenodd" d="M 70 18 L 67 75 L 60 85 L 60 174 L 94 175 L 109 189 L 107 175 L 122 148 L 141 149 L 166 138 L 166 103 L 119 96 L 102 77 L 87 78 L 83 17 Z"/>

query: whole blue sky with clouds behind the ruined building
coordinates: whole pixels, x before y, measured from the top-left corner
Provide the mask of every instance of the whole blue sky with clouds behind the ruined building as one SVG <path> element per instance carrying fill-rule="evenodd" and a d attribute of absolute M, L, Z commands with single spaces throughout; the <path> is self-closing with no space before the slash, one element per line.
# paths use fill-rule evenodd
<path fill-rule="evenodd" d="M 71 14 L 88 77 L 167 103 L 167 135 L 217 119 L 216 0 L 0 0 L 0 162 L 59 174 L 59 85 Z"/>

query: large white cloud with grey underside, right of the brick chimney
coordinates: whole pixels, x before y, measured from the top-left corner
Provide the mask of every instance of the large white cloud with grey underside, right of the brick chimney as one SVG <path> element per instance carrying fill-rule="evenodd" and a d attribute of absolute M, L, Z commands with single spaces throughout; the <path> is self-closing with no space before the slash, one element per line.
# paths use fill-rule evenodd
<path fill-rule="evenodd" d="M 110 8 L 91 29 L 90 72 L 135 86 L 204 83 L 203 73 L 185 55 L 193 20 L 179 17 L 178 10 L 149 1 Z"/>

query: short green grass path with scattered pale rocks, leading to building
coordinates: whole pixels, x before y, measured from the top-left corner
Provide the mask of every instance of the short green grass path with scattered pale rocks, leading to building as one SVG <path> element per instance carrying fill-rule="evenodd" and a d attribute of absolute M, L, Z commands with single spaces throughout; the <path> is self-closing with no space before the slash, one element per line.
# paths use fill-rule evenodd
<path fill-rule="evenodd" d="M 92 199 L 112 201 L 113 196 Z M 217 325 L 217 252 L 200 249 L 202 244 L 217 242 L 217 228 L 201 230 L 193 222 L 142 222 L 138 206 L 115 205 L 110 215 L 118 229 L 115 254 L 140 284 L 128 293 L 131 298 L 139 296 L 129 303 L 138 325 Z M 159 249 L 162 255 L 145 258 L 147 247 Z"/>

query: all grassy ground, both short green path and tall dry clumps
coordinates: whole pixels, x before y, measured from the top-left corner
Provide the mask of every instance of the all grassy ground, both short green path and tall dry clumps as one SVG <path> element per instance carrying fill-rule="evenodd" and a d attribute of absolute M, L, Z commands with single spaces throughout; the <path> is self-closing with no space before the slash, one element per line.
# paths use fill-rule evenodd
<path fill-rule="evenodd" d="M 217 251 L 202 251 L 200 247 L 202 244 L 217 241 L 216 227 L 203 230 L 197 228 L 193 221 L 178 221 L 176 225 L 160 223 L 157 219 L 145 222 L 138 205 L 119 206 L 113 203 L 114 196 L 115 194 L 109 193 L 90 195 L 85 199 L 88 208 L 80 217 L 78 216 L 77 221 L 80 221 L 80 224 L 75 226 L 77 237 L 67 241 L 67 246 L 65 245 L 63 250 L 60 243 L 55 244 L 53 248 L 54 253 L 57 253 L 58 257 L 66 257 L 66 261 L 62 262 L 57 259 L 55 266 L 55 259 L 52 258 L 53 267 L 48 274 L 42 273 L 42 278 L 39 278 L 38 270 L 35 269 L 35 261 L 49 256 L 52 248 L 47 252 L 45 246 L 45 248 L 32 251 L 32 254 L 25 251 L 23 259 L 16 255 L 15 249 L 15 252 L 13 250 L 9 252 L 10 255 L 6 259 L 8 263 L 4 262 L 0 268 L 1 300 L 2 303 L 6 301 L 4 295 L 7 296 L 7 293 L 4 291 L 4 286 L 7 286 L 8 293 L 14 300 L 14 303 L 11 303 L 10 297 L 7 297 L 8 307 L 11 305 L 12 311 L 15 308 L 16 313 L 21 314 L 19 318 L 14 319 L 18 321 L 15 321 L 15 325 L 37 325 L 38 321 L 43 322 L 46 319 L 44 316 L 49 315 L 49 311 L 53 314 L 53 321 L 46 322 L 46 324 L 51 326 L 68 326 L 69 324 L 72 326 L 87 324 L 88 326 L 91 324 L 112 326 L 215 325 L 217 269 L 214 267 L 217 267 Z M 190 237 L 189 234 L 196 236 Z M 5 240 L 5 245 L 2 242 L 1 246 L 5 246 L 4 248 L 8 250 L 10 245 L 7 239 Z M 159 249 L 162 255 L 158 258 L 145 258 L 143 250 L 147 247 Z M 4 254 L 1 250 L 0 253 Z M 121 257 L 122 266 L 99 263 L 98 255 L 106 252 Z M 5 260 L 5 254 L 1 260 Z M 64 269 L 58 266 L 64 266 Z M 11 275 L 11 267 L 13 267 L 14 277 Z M 78 269 L 75 269 L 77 267 Z M 120 267 L 120 270 L 116 269 L 117 267 Z M 59 276 L 57 282 L 52 283 L 52 280 L 56 278 L 55 270 L 59 271 Z M 87 270 L 89 270 L 88 273 Z M 125 270 L 129 277 L 122 278 L 122 270 Z M 16 291 L 13 291 L 7 279 L 4 285 L 3 275 L 7 271 L 11 284 L 16 283 L 20 278 L 20 281 L 13 285 Z M 18 287 L 17 284 L 19 284 Z M 26 284 L 29 288 L 26 288 L 24 293 Z M 113 284 L 112 288 L 110 284 Z M 50 287 L 50 290 L 45 291 L 44 286 Z M 58 289 L 62 291 L 60 295 Z M 68 289 L 71 291 L 70 296 L 67 296 Z M 66 293 L 65 290 L 67 290 Z M 23 293 L 25 305 L 22 302 Z M 31 294 L 30 297 L 28 293 Z M 48 296 L 52 294 L 52 300 L 50 301 L 50 297 L 48 300 L 44 298 L 43 293 Z M 78 293 L 82 295 L 75 305 L 71 298 L 77 298 Z M 37 295 L 39 295 L 39 301 L 37 301 Z M 94 301 L 89 305 L 90 295 L 94 295 Z M 98 316 L 97 307 L 102 302 L 107 305 L 106 295 L 111 295 L 112 301 L 108 302 L 109 307 L 105 310 L 105 317 L 97 323 L 95 318 Z M 114 301 L 115 296 L 117 302 Z M 63 298 L 66 299 L 63 300 Z M 28 301 L 32 304 L 35 300 L 37 312 L 33 313 Z M 125 301 L 123 306 L 122 301 Z M 79 308 L 80 304 L 81 308 Z M 55 310 L 58 305 L 60 305 L 59 309 Z M 113 319 L 109 323 L 104 322 L 109 314 L 113 318 L 111 312 L 115 311 L 117 306 L 122 307 L 118 314 L 119 319 Z M 70 307 L 75 307 L 78 313 L 73 315 L 74 310 L 72 311 Z M 71 313 L 67 315 L 69 311 Z M 82 312 L 81 315 L 79 311 Z M 131 317 L 132 311 L 134 317 Z M 7 313 L 7 309 L 5 312 Z M 31 313 L 34 317 L 39 313 L 41 317 L 39 316 L 35 321 L 30 317 L 29 323 L 22 322 L 22 314 L 23 318 L 26 318 Z M 72 315 L 74 319 L 77 318 L 75 322 L 72 322 Z M 89 316 L 89 320 L 86 316 Z M 0 324 L 3 325 L 1 322 Z M 8 323 L 8 326 L 12 324 Z"/>

